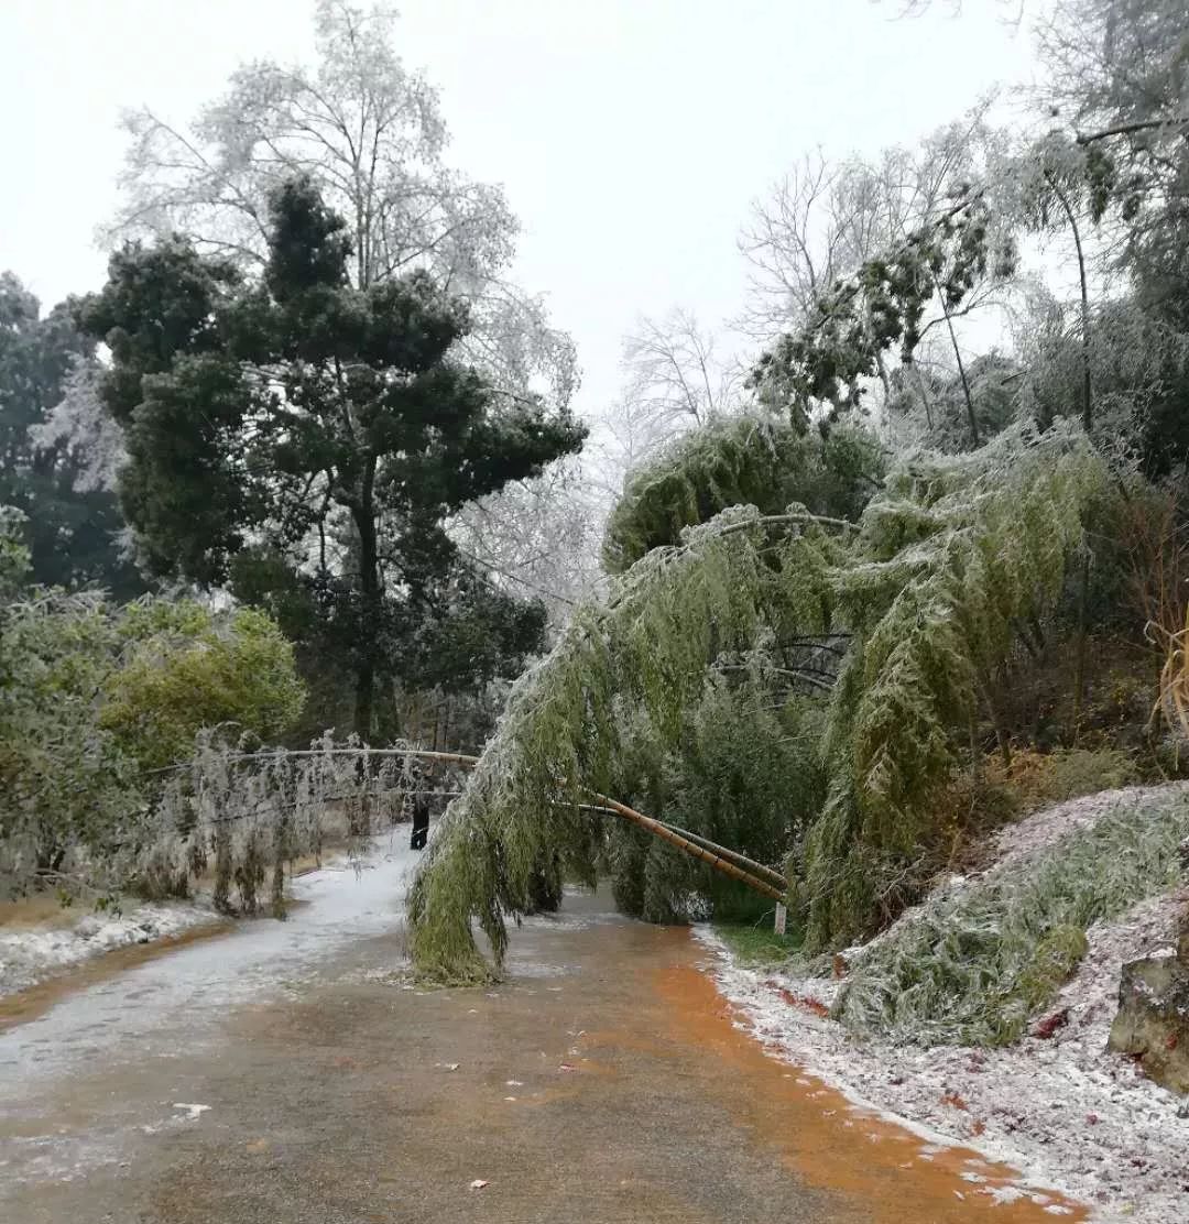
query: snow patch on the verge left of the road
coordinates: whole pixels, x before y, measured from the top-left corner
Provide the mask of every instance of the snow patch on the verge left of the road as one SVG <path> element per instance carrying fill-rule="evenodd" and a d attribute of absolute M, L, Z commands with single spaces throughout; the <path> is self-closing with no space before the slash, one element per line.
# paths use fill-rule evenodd
<path fill-rule="evenodd" d="M 218 922 L 209 906 L 138 905 L 119 914 L 86 914 L 71 927 L 0 928 L 0 999 L 130 944 L 181 935 Z"/>

